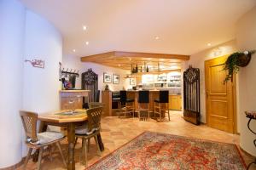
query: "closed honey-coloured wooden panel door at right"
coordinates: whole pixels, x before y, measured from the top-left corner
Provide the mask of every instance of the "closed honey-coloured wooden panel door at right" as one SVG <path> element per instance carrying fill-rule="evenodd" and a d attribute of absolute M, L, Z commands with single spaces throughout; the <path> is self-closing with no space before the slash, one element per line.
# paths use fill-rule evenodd
<path fill-rule="evenodd" d="M 205 62 L 207 125 L 229 133 L 236 132 L 236 79 L 224 83 L 224 62 L 228 55 Z"/>

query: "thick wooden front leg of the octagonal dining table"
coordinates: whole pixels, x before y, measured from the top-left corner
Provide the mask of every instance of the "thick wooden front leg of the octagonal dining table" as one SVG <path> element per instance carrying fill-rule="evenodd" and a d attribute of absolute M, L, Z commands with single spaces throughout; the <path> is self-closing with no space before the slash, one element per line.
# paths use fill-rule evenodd
<path fill-rule="evenodd" d="M 75 169 L 75 161 L 74 161 L 75 124 L 73 122 L 68 123 L 67 142 L 68 142 L 67 169 L 73 170 Z"/>

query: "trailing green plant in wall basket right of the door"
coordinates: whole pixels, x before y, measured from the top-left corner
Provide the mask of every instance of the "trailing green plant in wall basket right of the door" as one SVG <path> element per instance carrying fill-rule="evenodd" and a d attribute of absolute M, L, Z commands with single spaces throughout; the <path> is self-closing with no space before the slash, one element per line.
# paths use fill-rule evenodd
<path fill-rule="evenodd" d="M 224 79 L 224 83 L 230 80 L 233 81 L 233 75 L 239 71 L 239 67 L 245 67 L 249 64 L 251 56 L 254 53 L 255 50 L 230 54 L 229 58 L 224 64 L 224 71 L 228 71 L 228 74 Z"/>

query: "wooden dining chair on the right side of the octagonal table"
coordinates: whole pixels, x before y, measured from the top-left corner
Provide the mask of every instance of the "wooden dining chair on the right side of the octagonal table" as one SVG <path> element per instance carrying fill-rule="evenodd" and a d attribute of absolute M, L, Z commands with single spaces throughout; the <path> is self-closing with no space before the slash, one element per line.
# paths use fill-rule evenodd
<path fill-rule="evenodd" d="M 98 156 L 101 156 L 100 145 L 98 143 L 98 134 L 100 134 L 101 129 L 101 117 L 102 117 L 103 107 L 91 108 L 86 111 L 88 120 L 84 122 L 81 127 L 76 127 L 76 140 L 78 138 L 82 139 L 82 150 L 81 157 L 84 157 L 84 164 L 87 167 L 87 152 L 90 146 L 90 138 L 95 139 Z"/>

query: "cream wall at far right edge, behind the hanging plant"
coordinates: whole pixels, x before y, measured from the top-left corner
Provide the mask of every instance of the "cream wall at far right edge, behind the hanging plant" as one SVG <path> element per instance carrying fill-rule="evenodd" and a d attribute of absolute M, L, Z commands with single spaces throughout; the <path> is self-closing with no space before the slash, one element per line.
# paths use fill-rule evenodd
<path fill-rule="evenodd" d="M 240 51 L 256 49 L 256 7 L 237 22 L 237 47 Z M 244 111 L 256 111 L 256 54 L 247 67 L 241 68 L 239 72 L 239 103 L 237 114 L 241 122 L 240 145 L 253 156 L 256 156 L 256 149 L 253 144 L 255 134 L 247 129 L 248 119 Z M 251 126 L 256 131 L 256 121 Z"/>

